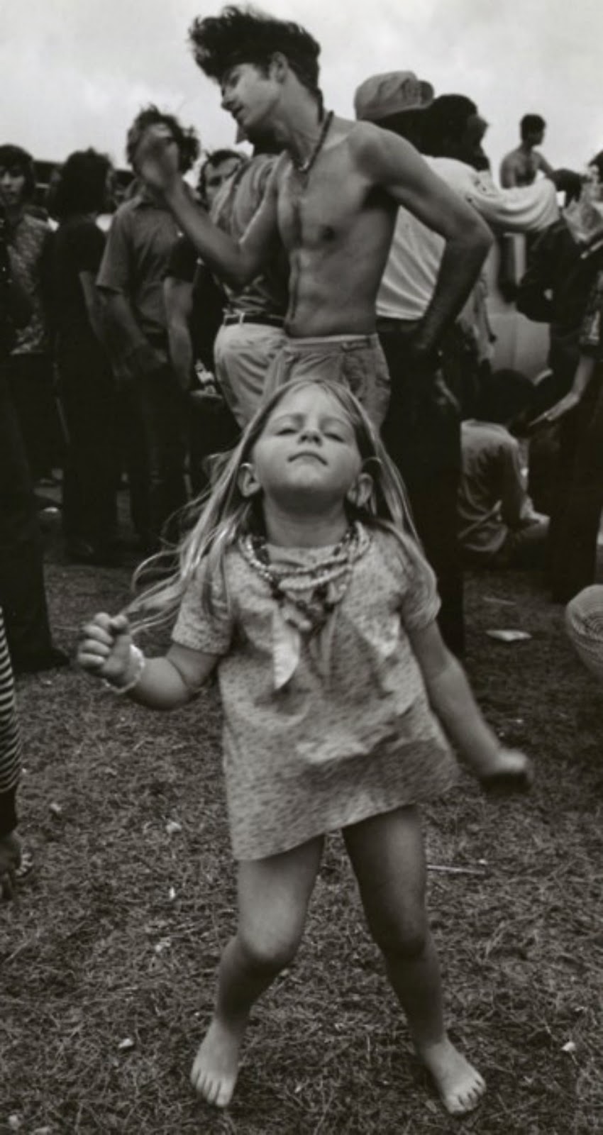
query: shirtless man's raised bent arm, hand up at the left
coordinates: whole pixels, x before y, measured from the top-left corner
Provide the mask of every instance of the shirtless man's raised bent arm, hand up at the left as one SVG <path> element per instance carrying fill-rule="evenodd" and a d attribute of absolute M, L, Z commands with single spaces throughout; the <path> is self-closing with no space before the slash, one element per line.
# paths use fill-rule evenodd
<path fill-rule="evenodd" d="M 241 288 L 270 259 L 278 236 L 276 187 L 268 184 L 263 201 L 242 241 L 233 241 L 193 200 L 178 169 L 178 150 L 168 129 L 150 127 L 136 153 L 136 173 L 158 193 L 203 262 L 231 287 Z"/>

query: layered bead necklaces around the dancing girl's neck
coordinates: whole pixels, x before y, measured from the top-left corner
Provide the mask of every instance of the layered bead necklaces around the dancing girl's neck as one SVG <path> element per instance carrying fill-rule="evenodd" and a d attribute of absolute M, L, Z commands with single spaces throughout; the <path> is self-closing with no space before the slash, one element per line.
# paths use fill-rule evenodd
<path fill-rule="evenodd" d="M 266 540 L 259 536 L 243 537 L 240 547 L 250 566 L 268 583 L 285 617 L 315 634 L 343 599 L 353 564 L 369 543 L 366 530 L 352 524 L 313 566 L 271 563 Z"/>

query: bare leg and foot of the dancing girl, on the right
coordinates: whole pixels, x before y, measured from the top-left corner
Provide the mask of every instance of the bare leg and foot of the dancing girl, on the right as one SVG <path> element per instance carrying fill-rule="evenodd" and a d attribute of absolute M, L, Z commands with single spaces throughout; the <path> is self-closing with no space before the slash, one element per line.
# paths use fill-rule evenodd
<path fill-rule="evenodd" d="M 407 1014 L 414 1046 L 445 1108 L 463 1115 L 485 1091 L 478 1071 L 449 1040 L 442 985 L 425 909 L 426 864 L 416 808 L 397 808 L 344 830 L 369 930 Z"/>

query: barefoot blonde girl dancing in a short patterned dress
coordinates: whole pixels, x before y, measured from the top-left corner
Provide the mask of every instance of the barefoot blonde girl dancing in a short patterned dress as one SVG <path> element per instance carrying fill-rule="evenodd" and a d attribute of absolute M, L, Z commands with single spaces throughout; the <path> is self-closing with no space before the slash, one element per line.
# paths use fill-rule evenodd
<path fill-rule="evenodd" d="M 126 614 L 83 628 L 79 665 L 151 708 L 218 670 L 240 920 L 192 1069 L 210 1103 L 231 1101 L 251 1008 L 295 955 L 334 829 L 445 1108 L 485 1090 L 444 1028 L 418 805 L 455 780 L 441 722 L 487 785 L 528 787 L 531 765 L 481 717 L 437 609 L 395 466 L 346 387 L 313 378 L 260 407 L 179 572 L 134 602 L 139 625 L 178 612 L 167 655 L 145 659 Z"/>

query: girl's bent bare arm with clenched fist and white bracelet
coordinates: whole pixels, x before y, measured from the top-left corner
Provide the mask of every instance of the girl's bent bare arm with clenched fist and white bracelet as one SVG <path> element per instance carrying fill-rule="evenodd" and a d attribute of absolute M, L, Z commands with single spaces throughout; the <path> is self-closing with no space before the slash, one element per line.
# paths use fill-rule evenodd
<path fill-rule="evenodd" d="M 145 658 L 132 641 L 125 615 L 94 615 L 82 630 L 77 662 L 83 670 L 151 709 L 189 701 L 216 665 L 216 655 L 174 642 L 160 658 Z"/>

